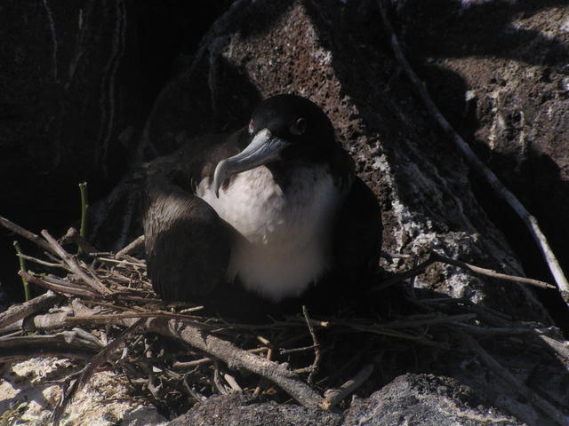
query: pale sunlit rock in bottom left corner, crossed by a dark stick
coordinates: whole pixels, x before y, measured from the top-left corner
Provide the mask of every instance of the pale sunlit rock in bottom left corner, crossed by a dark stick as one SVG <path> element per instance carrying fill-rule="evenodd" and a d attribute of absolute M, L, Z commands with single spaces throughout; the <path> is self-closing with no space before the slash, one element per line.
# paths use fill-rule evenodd
<path fill-rule="evenodd" d="M 60 386 L 53 381 L 69 373 L 67 359 L 29 359 L 13 363 L 0 376 L 0 424 L 43 426 L 51 422 L 60 400 Z M 155 426 L 165 419 L 154 406 L 134 400 L 120 377 L 95 373 L 66 410 L 61 424 L 92 426 Z"/>

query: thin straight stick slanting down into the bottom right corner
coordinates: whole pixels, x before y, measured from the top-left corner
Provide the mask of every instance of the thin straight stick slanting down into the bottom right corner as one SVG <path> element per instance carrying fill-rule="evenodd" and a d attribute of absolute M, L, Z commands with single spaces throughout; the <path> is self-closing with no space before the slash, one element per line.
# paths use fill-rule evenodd
<path fill-rule="evenodd" d="M 474 351 L 485 362 L 486 366 L 493 371 L 494 375 L 500 377 L 504 382 L 509 383 L 511 386 L 510 389 L 522 395 L 533 405 L 538 406 L 545 414 L 548 414 L 549 417 L 561 426 L 567 426 L 567 424 L 569 424 L 569 417 L 557 410 L 557 408 L 552 406 L 549 401 L 541 398 L 537 393 L 525 386 L 524 383 L 517 380 L 517 378 L 512 375 L 507 368 L 501 366 L 496 359 L 493 359 L 493 357 L 486 352 L 476 340 L 469 335 L 464 334 L 462 335 L 462 338 L 469 345 L 470 349 L 472 349 L 472 351 Z"/>

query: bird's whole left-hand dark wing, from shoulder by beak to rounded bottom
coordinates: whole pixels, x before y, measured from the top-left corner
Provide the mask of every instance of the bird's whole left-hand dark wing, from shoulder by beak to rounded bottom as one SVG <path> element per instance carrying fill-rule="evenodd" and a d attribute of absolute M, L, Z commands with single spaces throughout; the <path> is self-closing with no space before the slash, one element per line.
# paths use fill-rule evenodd
<path fill-rule="evenodd" d="M 226 280 L 231 228 L 196 197 L 194 185 L 226 151 L 239 150 L 241 133 L 196 138 L 147 165 L 142 222 L 148 278 L 165 300 L 196 302 Z"/>

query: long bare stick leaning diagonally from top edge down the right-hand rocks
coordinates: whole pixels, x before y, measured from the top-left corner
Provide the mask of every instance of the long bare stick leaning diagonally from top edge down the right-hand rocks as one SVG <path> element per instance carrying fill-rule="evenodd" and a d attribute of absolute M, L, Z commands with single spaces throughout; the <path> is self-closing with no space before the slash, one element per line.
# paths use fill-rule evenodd
<path fill-rule="evenodd" d="M 461 136 L 453 129 L 453 126 L 451 126 L 451 124 L 446 121 L 445 116 L 441 114 L 437 108 L 437 105 L 435 105 L 435 102 L 433 102 L 433 99 L 430 98 L 429 91 L 427 91 L 425 83 L 421 82 L 405 58 L 405 55 L 403 54 L 401 46 L 397 40 L 395 30 L 389 21 L 388 13 L 383 0 L 379 0 L 379 5 L 381 10 L 381 17 L 383 19 L 383 25 L 391 37 L 391 47 L 393 48 L 397 61 L 399 65 L 403 67 L 407 78 L 413 83 L 413 88 L 425 103 L 425 106 L 427 106 L 429 114 L 439 123 L 443 130 L 445 130 L 445 133 L 450 138 L 453 138 L 454 144 L 457 146 L 463 157 L 469 162 L 470 166 L 477 170 L 478 173 L 480 173 L 482 177 L 485 178 L 486 182 L 492 186 L 494 192 L 504 201 L 508 202 L 509 206 L 517 213 L 517 216 L 522 219 L 525 226 L 528 228 L 530 233 L 532 233 L 533 239 L 541 249 L 541 254 L 549 266 L 549 271 L 557 283 L 557 288 L 559 288 L 561 296 L 565 300 L 565 303 L 569 304 L 569 281 L 567 281 L 565 273 L 557 261 L 557 257 L 549 247 L 549 242 L 547 241 L 545 235 L 541 233 L 537 219 L 530 215 L 522 203 L 517 200 L 516 196 L 501 183 L 493 171 L 485 166 L 484 162 L 481 162 L 478 159 L 477 155 L 474 153 L 474 151 L 472 151 L 469 144 L 467 144 L 466 141 L 461 138 Z"/>

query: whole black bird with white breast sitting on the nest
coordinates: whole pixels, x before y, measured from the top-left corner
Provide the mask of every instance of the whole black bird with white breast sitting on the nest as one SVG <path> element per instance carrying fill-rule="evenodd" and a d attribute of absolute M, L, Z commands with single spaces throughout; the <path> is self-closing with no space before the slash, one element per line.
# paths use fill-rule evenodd
<path fill-rule="evenodd" d="M 333 311 L 379 262 L 379 202 L 322 108 L 295 94 L 151 162 L 143 193 L 148 277 L 164 300 L 242 318 Z"/>

